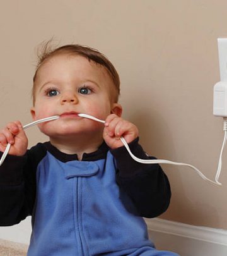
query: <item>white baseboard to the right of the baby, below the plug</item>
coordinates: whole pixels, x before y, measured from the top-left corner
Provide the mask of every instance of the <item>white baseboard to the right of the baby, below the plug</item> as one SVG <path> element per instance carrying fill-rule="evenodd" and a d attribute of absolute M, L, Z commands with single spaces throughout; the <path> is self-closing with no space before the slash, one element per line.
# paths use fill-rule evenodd
<path fill-rule="evenodd" d="M 227 231 L 154 218 L 145 219 L 158 250 L 181 256 L 227 255 Z"/>

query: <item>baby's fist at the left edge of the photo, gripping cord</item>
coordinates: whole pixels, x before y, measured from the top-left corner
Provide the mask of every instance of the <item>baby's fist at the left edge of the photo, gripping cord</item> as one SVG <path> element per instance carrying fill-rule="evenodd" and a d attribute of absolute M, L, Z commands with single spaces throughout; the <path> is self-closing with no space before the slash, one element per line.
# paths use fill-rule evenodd
<path fill-rule="evenodd" d="M 4 152 L 7 144 L 11 147 L 9 154 L 24 155 L 28 147 L 28 138 L 23 131 L 20 121 L 8 123 L 3 130 L 0 131 L 0 151 Z"/>

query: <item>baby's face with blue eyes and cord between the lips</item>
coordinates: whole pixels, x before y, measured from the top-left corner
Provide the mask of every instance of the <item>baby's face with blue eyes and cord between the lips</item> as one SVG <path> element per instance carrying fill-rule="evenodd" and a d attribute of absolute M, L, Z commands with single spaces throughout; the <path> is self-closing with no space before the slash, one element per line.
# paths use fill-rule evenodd
<path fill-rule="evenodd" d="M 105 120 L 113 109 L 120 107 L 112 102 L 112 94 L 114 84 L 103 66 L 82 56 L 61 54 L 40 66 L 31 113 L 33 119 L 60 116 L 39 125 L 49 137 L 98 132 L 103 130 L 102 124 L 77 114 L 90 114 Z"/>

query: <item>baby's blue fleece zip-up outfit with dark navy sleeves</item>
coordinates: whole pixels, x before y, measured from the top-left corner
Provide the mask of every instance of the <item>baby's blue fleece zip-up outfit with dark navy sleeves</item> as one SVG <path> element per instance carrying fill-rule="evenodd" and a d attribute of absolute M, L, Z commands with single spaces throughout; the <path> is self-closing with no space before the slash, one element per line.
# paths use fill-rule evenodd
<path fill-rule="evenodd" d="M 148 159 L 138 139 L 130 147 Z M 103 143 L 78 161 L 38 143 L 0 167 L 0 224 L 32 215 L 28 256 L 173 256 L 154 248 L 143 220 L 164 212 L 170 195 L 160 166 L 135 162 L 124 147 Z"/>

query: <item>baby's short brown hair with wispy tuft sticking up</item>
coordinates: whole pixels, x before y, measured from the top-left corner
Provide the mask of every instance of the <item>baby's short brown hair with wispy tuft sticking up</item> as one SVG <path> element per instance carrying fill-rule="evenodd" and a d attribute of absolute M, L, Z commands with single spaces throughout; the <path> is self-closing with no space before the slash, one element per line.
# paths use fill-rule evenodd
<path fill-rule="evenodd" d="M 110 78 L 115 85 L 115 95 L 114 101 L 117 102 L 120 95 L 120 78 L 115 70 L 114 65 L 107 59 L 107 57 L 99 52 L 96 49 L 93 49 L 88 46 L 82 46 L 80 44 L 68 44 L 66 46 L 54 47 L 52 46 L 52 40 L 44 42 L 41 44 L 40 49 L 38 49 L 38 63 L 35 70 L 35 75 L 33 76 L 33 88 L 32 88 L 32 97 L 33 105 L 35 104 L 35 79 L 37 77 L 38 70 L 40 66 L 49 58 L 56 56 L 58 54 L 75 54 L 77 56 L 83 56 L 88 59 L 88 61 L 93 61 L 96 64 L 100 64 L 107 70 Z"/>

